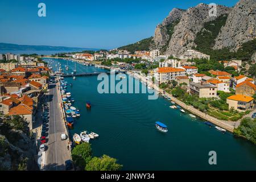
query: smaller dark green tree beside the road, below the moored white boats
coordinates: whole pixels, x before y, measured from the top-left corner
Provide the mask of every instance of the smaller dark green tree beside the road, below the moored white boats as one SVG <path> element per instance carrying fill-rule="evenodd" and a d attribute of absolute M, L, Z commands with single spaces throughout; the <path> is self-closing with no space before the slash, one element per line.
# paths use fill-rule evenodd
<path fill-rule="evenodd" d="M 92 148 L 89 143 L 82 143 L 73 148 L 72 159 L 75 164 L 81 168 L 85 168 L 86 164 L 92 159 Z"/>

